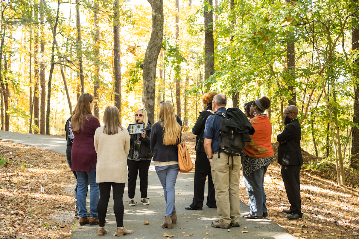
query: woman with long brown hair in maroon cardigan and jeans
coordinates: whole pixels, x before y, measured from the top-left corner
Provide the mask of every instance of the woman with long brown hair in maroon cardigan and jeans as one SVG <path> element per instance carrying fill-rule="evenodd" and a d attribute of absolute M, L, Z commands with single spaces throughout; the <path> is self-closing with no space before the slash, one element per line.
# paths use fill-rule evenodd
<path fill-rule="evenodd" d="M 77 209 L 80 225 L 98 224 L 97 202 L 99 187 L 96 183 L 97 154 L 93 138 L 100 127 L 99 120 L 92 115 L 94 97 L 88 93 L 82 94 L 77 101 L 75 114 L 71 118 L 71 128 L 74 133 L 74 143 L 71 149 L 72 171 L 77 175 Z M 90 184 L 90 218 L 87 218 L 86 196 Z"/>

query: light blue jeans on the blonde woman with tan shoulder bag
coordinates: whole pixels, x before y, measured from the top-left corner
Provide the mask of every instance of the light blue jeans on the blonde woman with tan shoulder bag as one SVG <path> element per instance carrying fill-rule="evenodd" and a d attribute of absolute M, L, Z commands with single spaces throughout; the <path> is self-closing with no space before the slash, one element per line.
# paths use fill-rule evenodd
<path fill-rule="evenodd" d="M 166 200 L 166 213 L 164 216 L 172 216 L 172 212 L 176 211 L 174 207 L 174 200 L 176 200 L 176 192 L 174 192 L 174 185 L 180 167 L 178 164 L 155 167 L 159 181 L 162 184 L 164 192 L 164 200 Z"/>

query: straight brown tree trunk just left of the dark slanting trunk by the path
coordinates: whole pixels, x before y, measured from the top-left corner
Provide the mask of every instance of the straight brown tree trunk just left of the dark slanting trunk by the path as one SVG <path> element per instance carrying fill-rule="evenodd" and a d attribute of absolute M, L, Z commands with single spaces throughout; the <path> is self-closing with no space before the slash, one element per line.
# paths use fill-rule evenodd
<path fill-rule="evenodd" d="M 41 43 L 40 43 L 40 56 L 43 59 L 45 55 L 45 31 L 44 31 L 44 2 L 40 0 L 40 32 L 41 32 Z M 45 79 L 45 62 L 41 62 L 41 71 L 40 71 L 40 85 L 41 85 L 41 102 L 40 102 L 40 134 L 45 134 L 45 125 L 46 125 L 46 116 L 45 116 L 45 107 L 46 107 L 46 79 Z"/>

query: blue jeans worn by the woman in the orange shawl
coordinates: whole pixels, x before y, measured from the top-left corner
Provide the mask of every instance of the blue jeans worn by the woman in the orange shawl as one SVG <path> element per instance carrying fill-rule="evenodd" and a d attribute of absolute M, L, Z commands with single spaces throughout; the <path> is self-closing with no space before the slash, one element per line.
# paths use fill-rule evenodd
<path fill-rule="evenodd" d="M 250 214 L 253 216 L 262 216 L 263 212 L 267 212 L 266 200 L 267 196 L 264 192 L 264 175 L 267 172 L 269 164 L 257 169 L 250 175 L 243 173 L 244 185 L 250 202 Z"/>

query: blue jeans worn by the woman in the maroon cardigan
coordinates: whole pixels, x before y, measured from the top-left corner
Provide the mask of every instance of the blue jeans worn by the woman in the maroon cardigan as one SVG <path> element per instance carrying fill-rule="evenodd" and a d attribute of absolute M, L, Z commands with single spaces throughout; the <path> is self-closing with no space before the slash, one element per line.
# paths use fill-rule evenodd
<path fill-rule="evenodd" d="M 78 183 L 76 204 L 79 217 L 87 218 L 86 196 L 88 184 L 90 184 L 90 216 L 97 219 L 97 203 L 100 196 L 95 166 L 92 164 L 90 172 L 76 171 L 76 175 Z"/>

